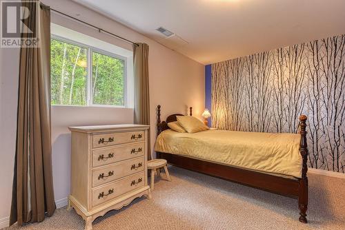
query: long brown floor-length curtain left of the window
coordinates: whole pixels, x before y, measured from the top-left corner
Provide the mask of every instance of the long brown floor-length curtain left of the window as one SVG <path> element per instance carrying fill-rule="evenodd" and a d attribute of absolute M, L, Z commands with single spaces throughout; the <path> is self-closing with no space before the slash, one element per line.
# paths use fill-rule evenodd
<path fill-rule="evenodd" d="M 39 3 L 37 1 L 37 3 Z M 35 3 L 28 25 L 36 23 Z M 10 224 L 44 220 L 55 211 L 50 140 L 50 9 L 39 7 L 39 48 L 21 48 Z"/>

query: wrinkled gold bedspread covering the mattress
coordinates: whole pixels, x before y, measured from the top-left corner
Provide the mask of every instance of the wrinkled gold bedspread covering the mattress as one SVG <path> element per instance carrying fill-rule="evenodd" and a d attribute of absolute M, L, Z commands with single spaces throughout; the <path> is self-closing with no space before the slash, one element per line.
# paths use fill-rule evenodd
<path fill-rule="evenodd" d="M 167 129 L 157 137 L 155 151 L 301 178 L 300 138 L 300 134 L 217 129 L 188 134 Z"/>

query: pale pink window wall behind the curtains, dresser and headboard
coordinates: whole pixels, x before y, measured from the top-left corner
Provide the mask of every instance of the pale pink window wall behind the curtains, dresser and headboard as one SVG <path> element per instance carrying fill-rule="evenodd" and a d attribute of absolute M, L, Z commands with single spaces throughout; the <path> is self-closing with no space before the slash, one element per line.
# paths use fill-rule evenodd
<path fill-rule="evenodd" d="M 152 148 L 155 143 L 156 106 L 161 104 L 162 116 L 173 112 L 187 112 L 194 107 L 195 116 L 201 116 L 204 109 L 204 65 L 186 56 L 169 50 L 146 36 L 127 28 L 97 12 L 66 0 L 44 0 L 43 3 L 66 14 L 80 14 L 79 19 L 126 37 L 132 41 L 148 43 L 150 74 L 150 120 Z M 117 41 L 106 34 L 86 28 L 79 23 L 68 21 L 52 14 L 52 22 L 73 30 L 95 36 L 122 48 L 131 45 Z M 6 68 L 1 67 L 1 160 L 0 160 L 0 227 L 1 221 L 8 221 L 14 163 L 15 125 L 17 114 L 17 76 L 19 53 L 14 50 L 3 52 Z M 5 61 L 5 60 L 4 60 Z M 1 60 L 1 62 L 3 62 Z M 6 79 L 2 79 L 6 78 Z M 6 109 L 6 111 L 3 111 Z M 90 108 L 90 107 L 52 107 L 52 164 L 55 187 L 55 200 L 63 204 L 70 191 L 70 125 L 95 125 L 132 123 L 132 109 Z M 4 137 L 4 138 L 2 138 Z M 5 195 L 2 195 L 5 194 Z"/>

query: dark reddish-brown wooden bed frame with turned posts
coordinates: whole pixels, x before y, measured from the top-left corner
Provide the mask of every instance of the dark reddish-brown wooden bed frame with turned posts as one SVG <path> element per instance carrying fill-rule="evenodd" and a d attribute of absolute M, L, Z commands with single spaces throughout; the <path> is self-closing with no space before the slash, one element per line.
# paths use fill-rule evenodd
<path fill-rule="evenodd" d="M 189 108 L 190 116 L 192 116 L 192 107 Z M 166 118 L 166 121 L 161 121 L 161 106 L 157 106 L 157 136 L 166 129 L 169 129 L 168 123 L 177 121 L 176 116 L 184 116 L 183 114 L 172 114 Z M 299 117 L 301 142 L 299 152 L 302 155 L 302 178 L 283 178 L 271 174 L 264 174 L 258 171 L 242 169 L 239 167 L 232 167 L 228 165 L 221 165 L 206 160 L 199 160 L 187 156 L 180 156 L 176 154 L 168 154 L 157 152 L 157 158 L 164 158 L 170 165 L 175 165 L 184 169 L 197 171 L 217 178 L 230 180 L 242 185 L 255 187 L 265 191 L 270 191 L 282 196 L 296 198 L 299 207 L 299 221 L 306 223 L 306 211 L 308 207 L 308 147 L 306 143 L 306 120 L 307 117 L 302 115 Z"/>

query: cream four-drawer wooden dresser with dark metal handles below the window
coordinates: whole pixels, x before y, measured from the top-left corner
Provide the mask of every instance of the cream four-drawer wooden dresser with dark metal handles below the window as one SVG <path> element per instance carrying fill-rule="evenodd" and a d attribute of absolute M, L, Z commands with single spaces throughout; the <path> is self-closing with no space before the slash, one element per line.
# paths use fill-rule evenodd
<path fill-rule="evenodd" d="M 148 125 L 69 127 L 72 132 L 70 196 L 92 229 L 92 221 L 135 198 L 150 198 L 147 176 Z"/>

